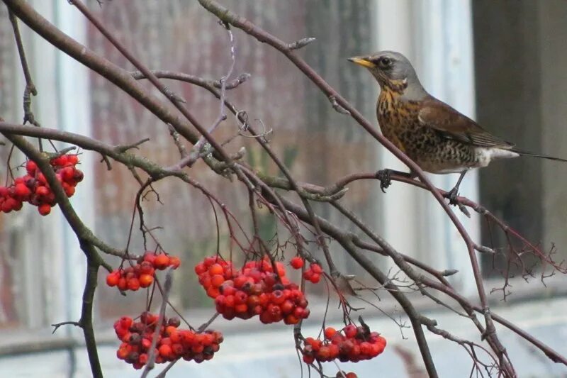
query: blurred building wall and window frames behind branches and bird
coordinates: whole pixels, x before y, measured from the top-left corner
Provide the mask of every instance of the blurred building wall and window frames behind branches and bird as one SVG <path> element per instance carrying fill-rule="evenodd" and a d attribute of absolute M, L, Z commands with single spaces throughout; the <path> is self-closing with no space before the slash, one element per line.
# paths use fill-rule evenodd
<path fill-rule="evenodd" d="M 126 62 L 74 7 L 62 0 L 30 0 L 37 11 L 65 33 L 127 70 Z M 87 5 L 113 30 L 114 35 L 142 62 L 155 70 L 185 72 L 219 79 L 230 65 L 226 31 L 197 1 L 96 1 Z M 422 84 L 434 96 L 475 118 L 492 133 L 520 148 L 567 157 L 567 2 L 548 1 L 449 1 L 449 0 L 220 0 L 232 11 L 249 18 L 281 40 L 293 42 L 315 37 L 303 48 L 305 57 L 366 118 L 376 122 L 378 85 L 371 75 L 347 62 L 347 57 L 378 50 L 398 50 L 414 64 Z M 178 160 L 167 131 L 150 112 L 99 75 L 86 70 L 35 35 L 21 23 L 24 46 L 38 96 L 33 98 L 35 117 L 43 126 L 85 133 L 106 143 L 130 144 L 150 138 L 140 148 L 162 165 Z M 352 172 L 372 172 L 383 167 L 404 169 L 395 157 L 369 138 L 352 119 L 332 109 L 328 99 L 305 79 L 283 55 L 234 30 L 235 74 L 252 76 L 228 99 L 249 117 L 274 130 L 271 145 L 291 168 L 296 179 L 327 185 Z M 167 85 L 181 94 L 190 111 L 204 123 L 218 116 L 218 101 L 204 89 L 180 82 Z M 21 97 L 25 82 L 13 41 L 6 6 L 0 6 L 0 116 L 13 123 L 23 117 Z M 151 88 L 148 86 L 148 88 Z M 259 121 L 258 121 L 259 122 Z M 216 134 L 219 140 L 237 132 L 229 118 Z M 246 159 L 262 172 L 278 174 L 258 145 L 245 138 L 228 149 L 247 147 Z M 6 161 L 9 148 L 0 148 Z M 123 248 L 128 238 L 133 199 L 138 184 L 128 169 L 113 164 L 111 171 L 100 157 L 86 152 L 82 167 L 86 179 L 72 203 L 96 235 Z M 12 157 L 13 165 L 23 161 Z M 231 211 L 247 213 L 245 192 L 198 163 L 191 175 L 206 185 Z M 0 178 L 7 177 L 6 165 Z M 495 215 L 529 240 L 549 250 L 557 246 L 556 260 L 567 257 L 567 165 L 529 157 L 495 162 L 481 172 L 467 174 L 461 194 L 480 201 Z M 432 176 L 444 189 L 454 185 L 454 175 Z M 172 303 L 191 323 L 202 323 L 210 301 L 196 286 L 193 266 L 215 252 L 215 220 L 210 204 L 198 191 L 174 179 L 156 185 L 163 204 L 145 203 L 148 226 L 161 226 L 157 235 L 164 248 L 181 257 L 175 276 Z M 342 201 L 376 228 L 395 248 L 428 262 L 439 270 L 458 269 L 451 283 L 473 297 L 476 291 L 466 249 L 439 205 L 425 191 L 394 183 L 382 194 L 374 182 L 357 182 Z M 339 222 L 325 206 L 318 213 Z M 262 235 L 277 230 L 262 214 Z M 473 214 L 459 215 L 476 240 L 504 247 L 505 238 Z M 244 218 L 243 218 L 244 219 Z M 247 218 L 242 226 L 249 226 Z M 228 229 L 221 224 L 223 248 Z M 132 250 L 142 248 L 135 233 Z M 335 262 L 343 272 L 368 277 L 336 245 Z M 391 263 L 373 257 L 388 270 Z M 501 287 L 502 261 L 484 255 L 486 287 Z M 112 264 L 116 261 L 109 260 Z M 57 209 L 40 218 L 24 206 L 18 213 L 0 214 L 0 376 L 87 377 L 90 374 L 82 333 L 63 327 L 51 335 L 51 323 L 76 320 L 80 314 L 85 262 L 76 238 Z M 536 335 L 563 355 L 567 346 L 567 280 L 551 277 L 547 287 L 539 274 L 527 284 L 511 280 L 513 294 L 491 296 L 495 311 Z M 103 274 L 101 274 L 103 279 Z M 325 311 L 322 285 L 310 288 L 313 315 L 304 328 L 315 335 Z M 441 328 L 480 341 L 466 319 L 440 310 L 412 296 L 417 306 L 437 319 Z M 335 298 L 332 298 L 335 300 Z M 400 308 L 388 297 L 377 304 L 385 313 L 403 321 Z M 103 370 L 108 377 L 137 377 L 129 365 L 116 359 L 118 347 L 111 324 L 126 313 L 141 311 L 145 296 L 120 296 L 99 285 L 96 330 Z M 364 306 L 354 301 L 354 306 Z M 369 306 L 367 306 L 369 307 Z M 376 308 L 363 311 L 371 328 L 383 333 L 388 347 L 376 360 L 357 365 L 341 364 L 359 377 L 424 377 L 412 331 L 400 329 Z M 332 306 L 330 322 L 339 326 L 339 312 Z M 319 321 L 318 321 L 319 320 Z M 328 323 L 328 322 L 327 322 Z M 301 365 L 293 350 L 291 330 L 282 326 L 259 329 L 249 322 L 217 321 L 225 333 L 221 352 L 202 365 L 179 363 L 171 377 L 299 377 Z M 520 377 L 567 377 L 567 368 L 555 366 L 541 352 L 515 335 L 500 330 L 504 345 Z M 468 376 L 471 360 L 462 348 L 430 335 L 434 360 L 442 377 Z M 337 367 L 327 364 L 327 374 Z M 304 371 L 305 374 L 305 371 Z M 169 376 L 169 375 L 168 375 Z"/>

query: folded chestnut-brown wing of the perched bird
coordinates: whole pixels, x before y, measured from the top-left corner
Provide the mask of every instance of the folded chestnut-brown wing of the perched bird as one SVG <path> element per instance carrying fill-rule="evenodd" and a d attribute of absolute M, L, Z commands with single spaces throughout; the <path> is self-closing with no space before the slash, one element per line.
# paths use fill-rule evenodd
<path fill-rule="evenodd" d="M 484 130 L 478 123 L 459 113 L 437 99 L 423 102 L 418 118 L 423 126 L 433 128 L 447 139 L 459 140 L 478 147 L 511 149 L 514 144 L 506 142 Z"/>

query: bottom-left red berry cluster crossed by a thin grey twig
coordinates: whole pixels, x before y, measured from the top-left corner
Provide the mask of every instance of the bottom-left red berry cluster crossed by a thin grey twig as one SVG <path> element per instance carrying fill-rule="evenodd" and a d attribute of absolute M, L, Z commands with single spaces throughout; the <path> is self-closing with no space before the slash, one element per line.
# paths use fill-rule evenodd
<path fill-rule="evenodd" d="M 149 350 L 155 332 L 158 332 L 155 345 L 155 362 L 161 364 L 183 358 L 201 363 L 213 358 L 223 342 L 223 334 L 216 330 L 195 333 L 179 329 L 179 318 L 164 318 L 162 327 L 156 330 L 158 316 L 149 312 L 140 315 L 140 321 L 123 316 L 114 323 L 118 339 L 122 341 L 116 351 L 120 360 L 141 369 L 148 360 Z"/>

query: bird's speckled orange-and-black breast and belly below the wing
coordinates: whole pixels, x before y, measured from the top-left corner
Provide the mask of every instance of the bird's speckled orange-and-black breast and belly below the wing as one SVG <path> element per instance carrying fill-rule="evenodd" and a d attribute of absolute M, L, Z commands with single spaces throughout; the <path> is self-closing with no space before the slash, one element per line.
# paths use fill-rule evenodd
<path fill-rule="evenodd" d="M 437 130 L 422 126 L 419 111 L 418 101 L 403 99 L 400 92 L 388 87 L 378 96 L 376 113 L 383 135 L 421 169 L 450 173 L 481 165 L 472 145 L 444 138 Z"/>

